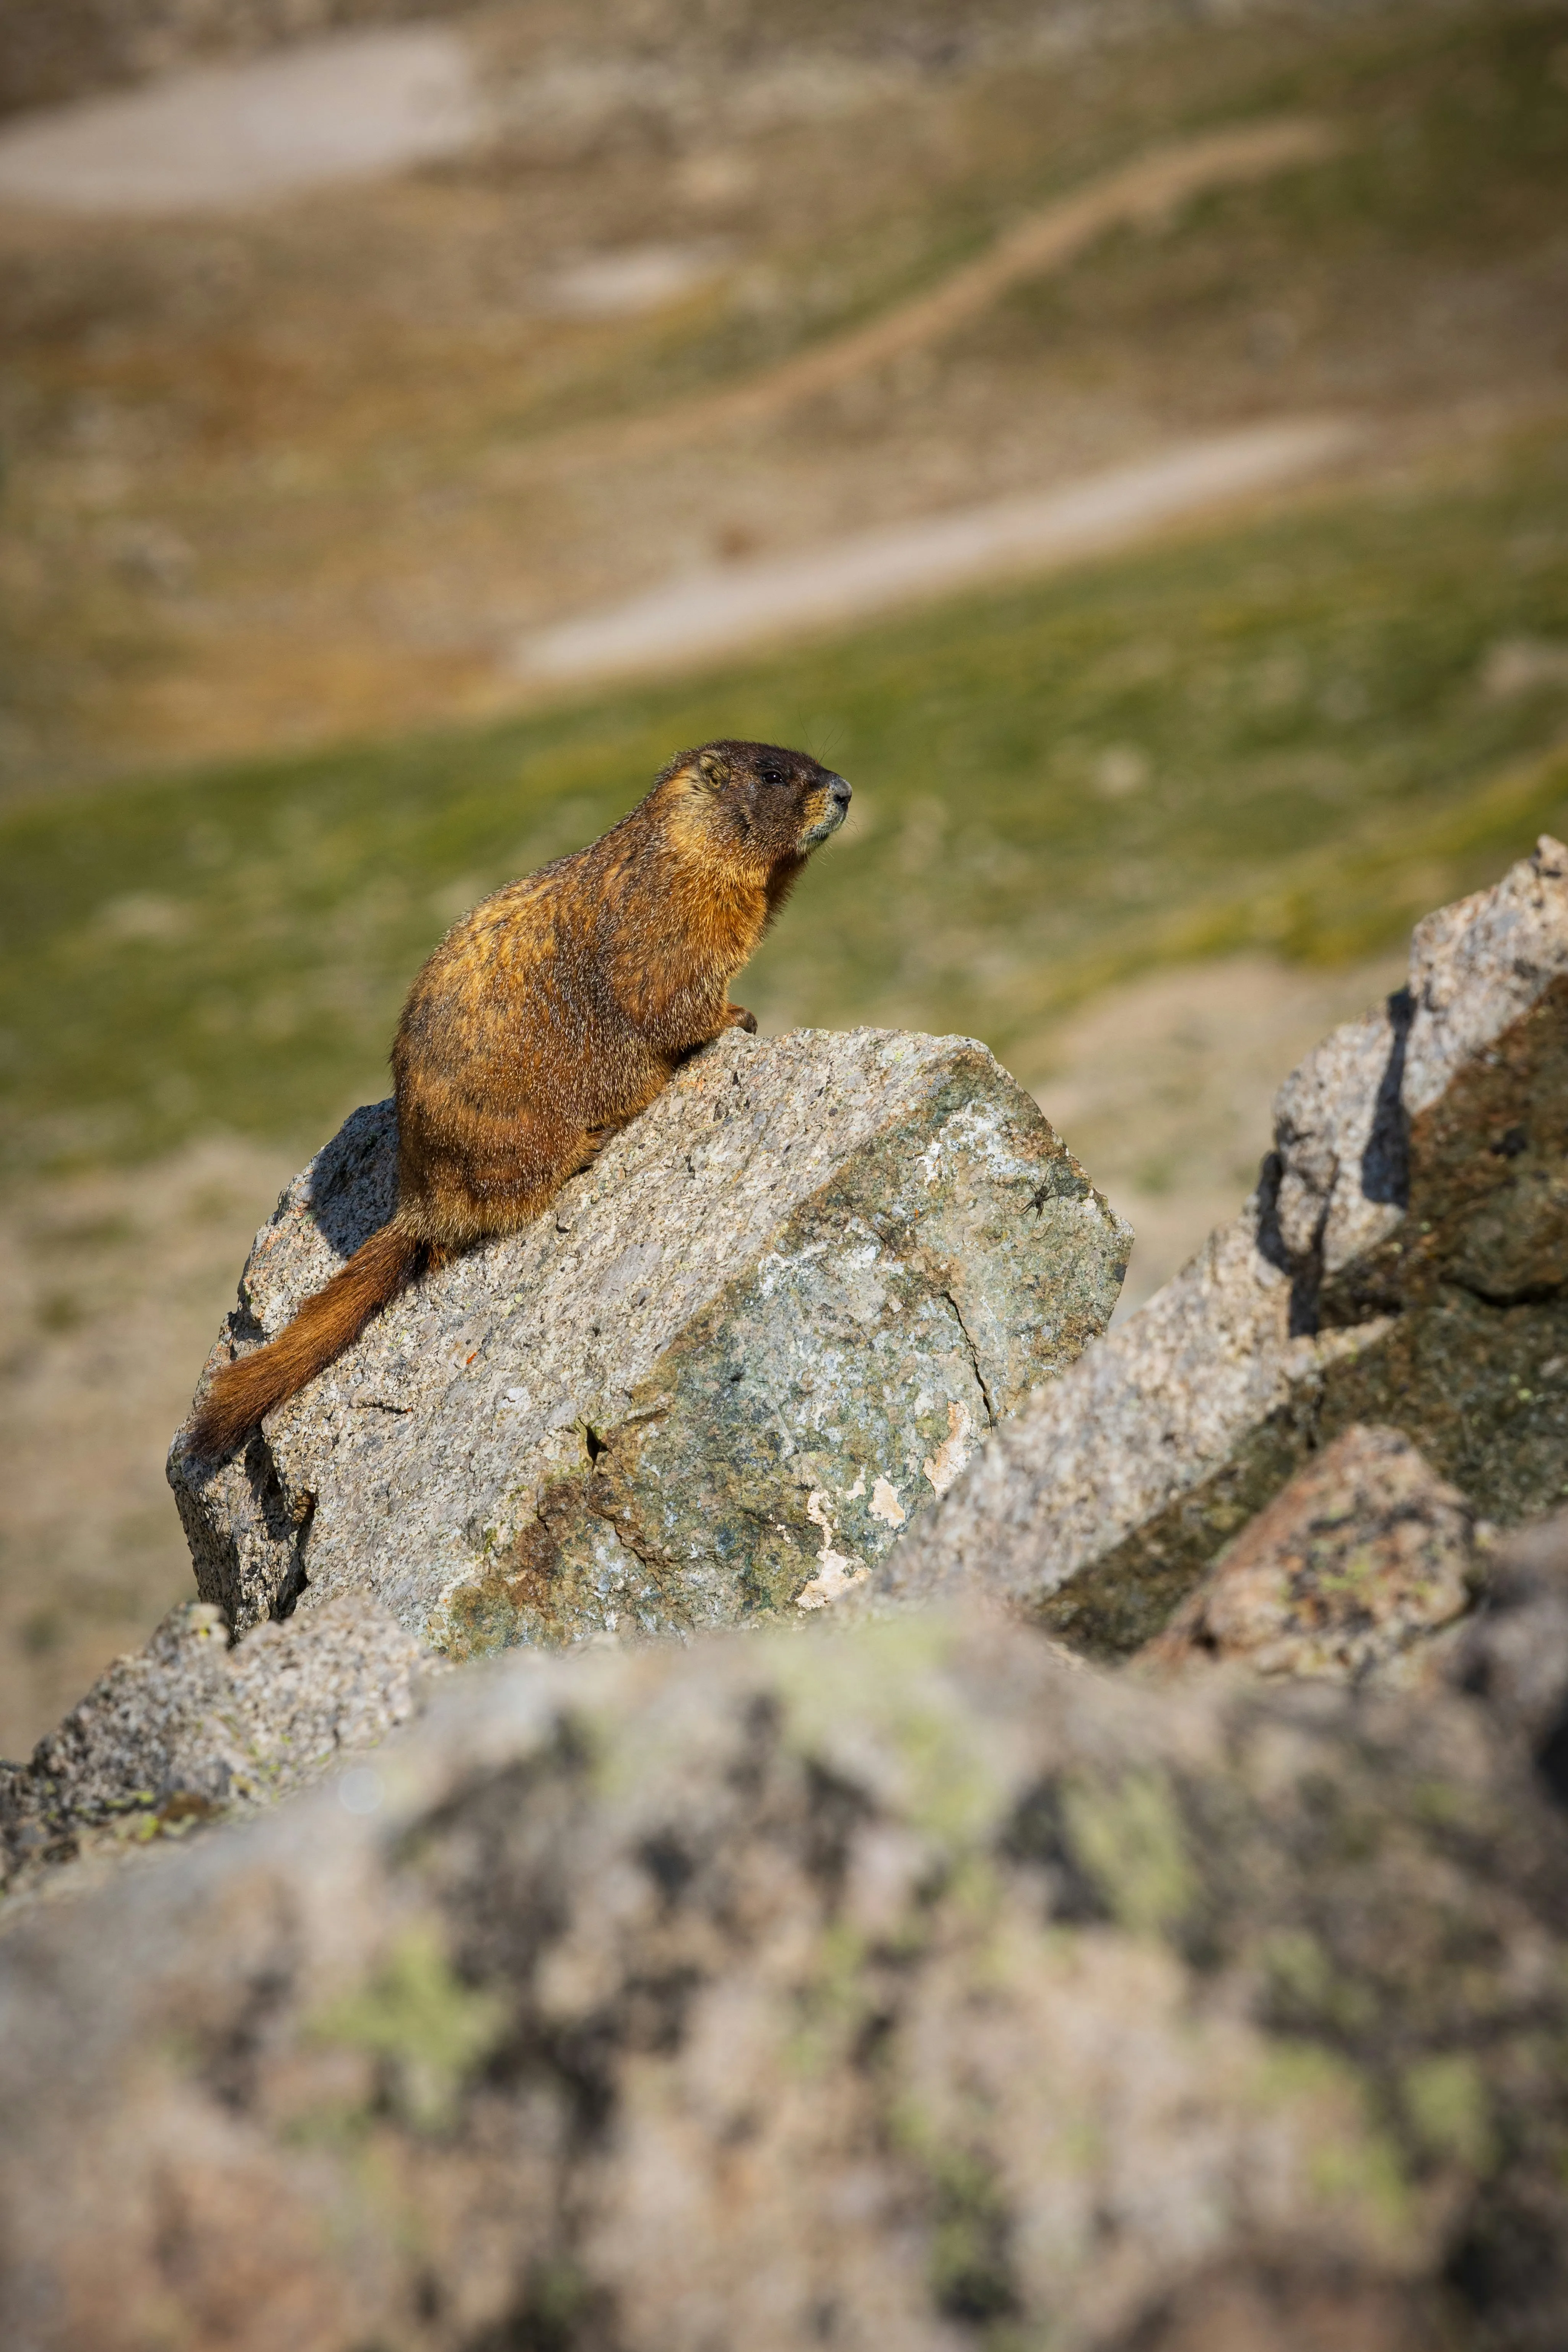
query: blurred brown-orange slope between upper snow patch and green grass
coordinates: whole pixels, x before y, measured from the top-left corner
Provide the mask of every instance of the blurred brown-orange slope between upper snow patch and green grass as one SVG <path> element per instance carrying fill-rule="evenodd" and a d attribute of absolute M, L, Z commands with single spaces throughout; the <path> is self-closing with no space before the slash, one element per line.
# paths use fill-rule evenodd
<path fill-rule="evenodd" d="M 1197 433 L 1561 407 L 1561 12 L 1225 16 L 752 129 L 726 82 L 668 136 L 223 221 L 7 214 L 0 793 L 496 715 L 538 630 L 708 562 Z M 1321 143 L 1145 207 L 1161 155 L 1281 120 Z M 552 308 L 564 259 L 649 247 L 715 275 Z"/>

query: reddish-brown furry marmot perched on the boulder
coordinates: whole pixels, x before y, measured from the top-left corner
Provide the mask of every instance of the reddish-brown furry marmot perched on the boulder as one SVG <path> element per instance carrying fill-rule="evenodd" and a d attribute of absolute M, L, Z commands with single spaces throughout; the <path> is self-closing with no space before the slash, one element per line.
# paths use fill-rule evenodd
<path fill-rule="evenodd" d="M 190 1446 L 230 1454 L 376 1308 L 515 1232 L 719 1030 L 849 786 L 799 750 L 705 743 L 588 849 L 508 882 L 447 931 L 393 1042 L 397 1209 L 275 1341 L 214 1376 Z"/>

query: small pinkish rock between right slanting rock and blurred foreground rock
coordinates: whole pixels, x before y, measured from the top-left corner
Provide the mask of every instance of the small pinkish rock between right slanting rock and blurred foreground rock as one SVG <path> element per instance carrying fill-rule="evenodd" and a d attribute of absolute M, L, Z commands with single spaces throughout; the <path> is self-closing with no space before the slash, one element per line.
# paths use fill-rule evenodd
<path fill-rule="evenodd" d="M 1483 1578 L 1469 1503 L 1399 1430 L 1361 1423 L 1295 1472 L 1138 1656 L 1244 1658 L 1258 1675 L 1396 1670 Z"/>

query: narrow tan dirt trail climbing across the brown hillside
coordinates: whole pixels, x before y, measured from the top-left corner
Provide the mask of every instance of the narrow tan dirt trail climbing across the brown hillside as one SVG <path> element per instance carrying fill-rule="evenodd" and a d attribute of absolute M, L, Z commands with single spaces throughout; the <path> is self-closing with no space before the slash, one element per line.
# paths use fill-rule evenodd
<path fill-rule="evenodd" d="M 555 459 L 654 456 L 705 433 L 771 423 L 802 400 L 832 393 L 910 350 L 945 341 L 969 320 L 983 318 L 1011 287 L 1063 268 L 1110 228 L 1147 226 L 1192 195 L 1267 179 L 1291 165 L 1319 162 L 1340 143 L 1342 134 L 1333 122 L 1288 115 L 1154 148 L 1018 221 L 987 254 L 978 254 L 929 294 L 884 310 L 865 327 L 851 327 L 748 383 L 705 393 L 682 407 L 630 423 L 555 435 L 550 452 Z"/>

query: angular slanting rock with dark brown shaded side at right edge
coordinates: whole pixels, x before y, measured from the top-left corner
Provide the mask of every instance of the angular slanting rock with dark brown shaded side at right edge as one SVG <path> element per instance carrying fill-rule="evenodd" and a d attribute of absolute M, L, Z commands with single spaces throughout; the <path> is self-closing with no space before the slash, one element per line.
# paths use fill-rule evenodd
<path fill-rule="evenodd" d="M 1497 1524 L 1568 1486 L 1568 851 L 1418 924 L 1276 1101 L 1241 1216 L 987 1444 L 879 1571 L 1107 1656 L 1312 1446 L 1403 1430 Z"/>

